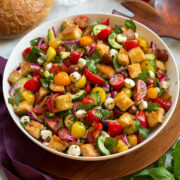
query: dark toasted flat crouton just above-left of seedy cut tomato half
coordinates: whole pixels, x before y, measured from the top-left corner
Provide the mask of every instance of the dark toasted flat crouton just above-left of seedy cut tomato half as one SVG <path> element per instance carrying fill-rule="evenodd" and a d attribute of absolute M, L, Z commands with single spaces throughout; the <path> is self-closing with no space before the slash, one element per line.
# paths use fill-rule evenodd
<path fill-rule="evenodd" d="M 103 78 L 111 78 L 116 74 L 114 69 L 108 65 L 98 64 L 97 69 Z"/>

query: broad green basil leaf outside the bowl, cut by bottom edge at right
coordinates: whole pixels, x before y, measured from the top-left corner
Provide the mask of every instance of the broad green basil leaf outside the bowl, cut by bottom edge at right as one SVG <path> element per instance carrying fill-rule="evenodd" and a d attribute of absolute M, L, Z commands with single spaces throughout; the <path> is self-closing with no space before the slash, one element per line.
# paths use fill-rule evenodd
<path fill-rule="evenodd" d="M 148 172 L 154 180 L 175 180 L 173 175 L 164 167 L 151 168 Z"/>

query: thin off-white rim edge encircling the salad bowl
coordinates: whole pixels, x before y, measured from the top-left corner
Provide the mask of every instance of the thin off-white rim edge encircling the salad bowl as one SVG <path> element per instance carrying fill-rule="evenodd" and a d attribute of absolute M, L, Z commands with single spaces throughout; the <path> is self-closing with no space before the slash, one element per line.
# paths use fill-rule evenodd
<path fill-rule="evenodd" d="M 61 21 L 62 19 L 64 18 L 67 18 L 67 19 L 72 19 L 73 17 L 75 16 L 81 16 L 81 15 L 84 15 L 84 16 L 88 16 L 88 15 L 96 15 L 96 16 L 99 16 L 99 15 L 104 15 L 104 16 L 109 16 L 109 17 L 118 17 L 120 18 L 121 20 L 126 20 L 126 19 L 130 19 L 128 17 L 124 17 L 124 16 L 119 16 L 119 15 L 114 15 L 114 14 L 110 14 L 110 13 L 81 13 L 81 14 L 72 14 L 72 15 L 69 15 L 69 16 L 61 16 L 61 17 L 58 17 L 58 18 L 54 18 L 50 21 L 47 21 L 43 24 L 41 24 L 40 26 L 36 27 L 35 29 L 33 29 L 32 31 L 30 31 L 29 33 L 27 33 L 25 36 L 23 36 L 21 38 L 21 40 L 16 44 L 16 46 L 18 46 L 24 39 L 26 39 L 26 37 L 29 35 L 29 34 L 32 34 L 32 33 L 35 33 L 39 28 L 42 28 L 43 26 L 46 26 L 48 24 L 52 24 L 56 21 Z M 165 47 L 166 49 L 168 50 L 168 53 L 171 55 L 172 57 L 172 60 L 174 61 L 174 64 L 175 64 L 175 71 L 176 71 L 176 74 L 177 74 L 177 87 L 179 87 L 179 71 L 178 71 L 178 67 L 177 67 L 177 64 L 176 64 L 176 61 L 175 61 L 175 58 L 171 52 L 171 50 L 168 48 L 168 46 L 165 44 L 165 42 L 154 32 L 152 31 L 150 28 L 148 28 L 147 26 L 143 25 L 142 23 L 136 21 L 136 20 L 133 20 L 135 22 L 135 24 L 138 24 L 140 26 L 142 26 L 143 28 L 147 29 L 148 31 L 151 32 L 151 34 L 153 34 L 153 36 L 155 36 Z M 10 56 L 8 59 L 11 59 L 12 57 L 12 54 L 14 53 L 15 51 L 15 48 L 16 46 L 13 48 Z M 175 110 L 175 107 L 177 105 L 177 101 L 178 101 L 178 97 L 179 97 L 179 88 L 177 90 L 177 96 L 175 98 L 175 101 L 174 101 L 174 106 L 171 107 L 171 112 L 170 114 L 168 115 L 168 117 L 166 117 L 166 122 L 164 122 L 161 126 L 159 126 L 154 132 L 154 134 L 150 137 L 148 137 L 147 139 L 145 139 L 143 142 L 141 142 L 140 144 L 136 145 L 135 147 L 132 147 L 130 149 L 128 149 L 127 151 L 124 151 L 124 152 L 120 152 L 120 153 L 116 153 L 116 154 L 111 154 L 111 155 L 108 155 L 108 156 L 97 156 L 97 157 L 84 157 L 84 156 L 72 156 L 72 155 L 69 155 L 69 154 L 66 154 L 66 153 L 63 153 L 63 152 L 58 152 L 54 149 L 51 149 L 45 145 L 43 145 L 39 140 L 35 139 L 33 136 L 31 136 L 20 124 L 18 124 L 18 122 L 13 118 L 13 114 L 10 112 L 10 108 L 8 106 L 8 100 L 7 100 L 7 97 L 6 97 L 6 94 L 4 93 L 6 91 L 5 89 L 5 83 L 7 81 L 7 79 L 5 78 L 5 72 L 7 71 L 7 64 L 8 62 L 10 61 L 7 61 L 6 63 L 6 66 L 5 66 L 5 69 L 4 69 L 4 73 L 3 73 L 3 96 L 4 96 L 4 99 L 5 99 L 5 104 L 6 104 L 6 107 L 8 109 L 8 112 L 9 114 L 11 115 L 11 118 L 13 119 L 13 121 L 15 122 L 15 124 L 19 127 L 19 129 L 30 139 L 32 140 L 35 144 L 37 144 L 38 146 L 40 146 L 41 148 L 53 153 L 53 154 L 56 154 L 58 156 L 61 156 L 61 157 L 65 157 L 65 158 L 68 158 L 68 159 L 73 159 L 73 160 L 80 160 L 80 161 L 99 161 L 99 160 L 108 160 L 108 159 L 113 159 L 113 158 L 117 158 L 117 157 L 120 157 L 120 156 L 123 156 L 125 154 L 129 154 L 139 148 L 141 148 L 142 146 L 146 145 L 148 142 L 150 142 L 153 138 L 155 138 L 162 130 L 163 128 L 167 125 L 168 121 L 170 120 L 174 110 Z M 11 107 L 12 108 L 12 107 Z"/>

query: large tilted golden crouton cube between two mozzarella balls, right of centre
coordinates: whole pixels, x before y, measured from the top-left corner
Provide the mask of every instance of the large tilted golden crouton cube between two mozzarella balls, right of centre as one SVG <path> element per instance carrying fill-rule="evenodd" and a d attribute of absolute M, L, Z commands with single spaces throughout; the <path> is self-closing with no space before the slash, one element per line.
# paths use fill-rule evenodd
<path fill-rule="evenodd" d="M 134 104 L 134 102 L 123 91 L 117 94 L 115 103 L 121 111 L 126 111 Z"/>

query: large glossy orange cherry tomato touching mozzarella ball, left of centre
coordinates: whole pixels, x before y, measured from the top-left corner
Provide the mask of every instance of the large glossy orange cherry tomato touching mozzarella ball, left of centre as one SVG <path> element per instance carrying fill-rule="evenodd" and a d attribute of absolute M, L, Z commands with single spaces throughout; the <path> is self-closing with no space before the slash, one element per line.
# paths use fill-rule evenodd
<path fill-rule="evenodd" d="M 54 77 L 54 83 L 59 86 L 67 86 L 71 84 L 71 80 L 66 72 L 59 72 Z"/>

